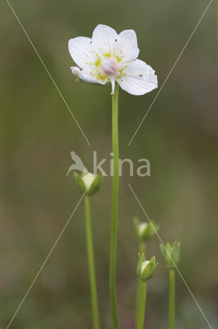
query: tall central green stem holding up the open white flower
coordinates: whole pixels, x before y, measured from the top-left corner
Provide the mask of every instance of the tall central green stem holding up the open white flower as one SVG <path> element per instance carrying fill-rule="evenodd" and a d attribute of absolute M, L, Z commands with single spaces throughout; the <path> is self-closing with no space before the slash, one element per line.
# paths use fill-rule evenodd
<path fill-rule="evenodd" d="M 110 246 L 110 305 L 113 328 L 119 328 L 116 303 L 116 240 L 117 240 L 117 207 L 118 207 L 118 84 L 115 82 L 115 95 L 112 96 L 112 210 L 111 210 L 111 246 Z"/>

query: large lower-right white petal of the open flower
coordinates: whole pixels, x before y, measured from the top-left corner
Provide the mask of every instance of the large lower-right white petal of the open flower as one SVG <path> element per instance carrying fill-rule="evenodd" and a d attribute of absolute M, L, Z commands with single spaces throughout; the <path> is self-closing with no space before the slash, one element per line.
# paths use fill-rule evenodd
<path fill-rule="evenodd" d="M 144 95 L 157 88 L 154 70 L 141 60 L 132 61 L 127 67 L 124 66 L 122 73 L 118 72 L 116 81 L 129 94 Z"/>

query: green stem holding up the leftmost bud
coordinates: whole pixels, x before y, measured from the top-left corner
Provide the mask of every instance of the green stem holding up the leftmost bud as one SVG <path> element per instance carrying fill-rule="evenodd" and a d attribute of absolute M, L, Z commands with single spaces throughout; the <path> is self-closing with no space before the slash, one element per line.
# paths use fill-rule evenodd
<path fill-rule="evenodd" d="M 98 306 L 97 306 L 94 248 L 93 248 L 93 237 L 92 237 L 90 200 L 88 196 L 85 196 L 85 210 L 86 210 L 86 244 L 87 244 L 87 255 L 88 255 L 88 263 L 89 263 L 89 280 L 90 280 L 90 289 L 91 289 L 93 328 L 99 329 L 100 324 L 99 324 Z"/>

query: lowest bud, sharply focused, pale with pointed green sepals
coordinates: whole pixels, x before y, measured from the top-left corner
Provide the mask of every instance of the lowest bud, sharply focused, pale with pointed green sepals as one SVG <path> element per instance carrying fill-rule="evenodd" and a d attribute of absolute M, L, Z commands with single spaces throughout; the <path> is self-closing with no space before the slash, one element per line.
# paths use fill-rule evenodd
<path fill-rule="evenodd" d="M 157 264 L 155 257 L 152 257 L 150 261 L 146 261 L 144 253 L 142 253 L 142 256 L 138 253 L 137 276 L 140 277 L 142 281 L 149 280 L 154 275 Z"/>

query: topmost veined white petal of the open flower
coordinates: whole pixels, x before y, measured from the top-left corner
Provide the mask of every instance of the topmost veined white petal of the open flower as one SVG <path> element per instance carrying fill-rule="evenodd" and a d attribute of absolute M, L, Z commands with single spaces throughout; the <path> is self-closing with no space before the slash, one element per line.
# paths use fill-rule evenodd
<path fill-rule="evenodd" d="M 97 25 L 92 34 L 93 44 L 95 47 L 101 48 L 102 53 L 112 51 L 117 39 L 116 31 L 107 25 Z"/>

